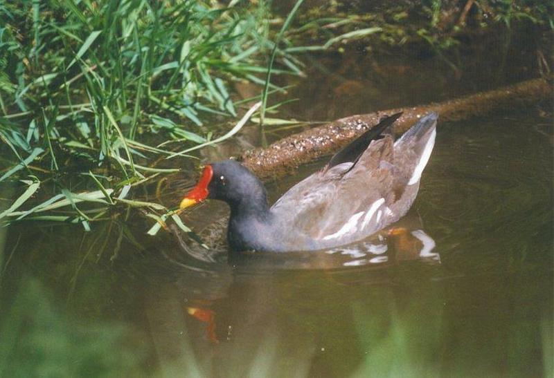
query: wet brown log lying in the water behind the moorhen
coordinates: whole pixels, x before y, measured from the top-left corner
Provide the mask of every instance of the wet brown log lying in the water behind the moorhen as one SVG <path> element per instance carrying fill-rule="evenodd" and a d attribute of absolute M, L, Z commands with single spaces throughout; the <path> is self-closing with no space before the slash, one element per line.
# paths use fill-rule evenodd
<path fill-rule="evenodd" d="M 352 115 L 290 135 L 265 149 L 246 151 L 242 154 L 241 160 L 242 164 L 260 178 L 275 178 L 295 169 L 300 164 L 337 151 L 377 124 L 384 115 L 404 112 L 395 122 L 394 129 L 395 133 L 402 133 L 429 111 L 436 111 L 439 114 L 439 124 L 441 121 L 469 120 L 492 111 L 530 106 L 545 98 L 552 98 L 552 94 L 552 86 L 546 80 L 533 79 L 446 102 Z"/>

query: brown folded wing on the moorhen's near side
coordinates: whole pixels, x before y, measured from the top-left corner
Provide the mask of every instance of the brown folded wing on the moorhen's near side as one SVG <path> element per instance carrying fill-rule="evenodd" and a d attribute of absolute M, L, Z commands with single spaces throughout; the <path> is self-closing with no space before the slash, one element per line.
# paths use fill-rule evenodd
<path fill-rule="evenodd" d="M 314 240 L 359 233 L 362 217 L 371 205 L 381 198 L 384 198 L 383 205 L 393 200 L 387 190 L 393 184 L 391 169 L 393 140 L 387 135 L 373 140 L 355 167 L 346 162 L 314 173 L 287 191 L 271 211 L 286 219 L 287 228 L 292 227 Z M 344 228 L 354 223 L 357 226 L 352 229 Z"/>

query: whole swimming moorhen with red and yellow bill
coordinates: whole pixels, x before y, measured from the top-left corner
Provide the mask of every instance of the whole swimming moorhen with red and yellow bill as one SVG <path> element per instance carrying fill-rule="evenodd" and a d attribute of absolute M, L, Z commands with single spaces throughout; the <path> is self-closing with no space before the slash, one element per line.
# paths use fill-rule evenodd
<path fill-rule="evenodd" d="M 180 207 L 227 202 L 235 252 L 327 249 L 364 239 L 406 214 L 433 151 L 438 115 L 425 115 L 394 141 L 385 131 L 400 115 L 382 118 L 271 207 L 262 182 L 235 160 L 206 165 Z"/>

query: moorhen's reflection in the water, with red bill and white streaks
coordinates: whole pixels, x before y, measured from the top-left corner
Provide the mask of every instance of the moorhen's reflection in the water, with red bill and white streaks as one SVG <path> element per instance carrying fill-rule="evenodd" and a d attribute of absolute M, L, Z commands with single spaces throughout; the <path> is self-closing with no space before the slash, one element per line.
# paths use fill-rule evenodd
<path fill-rule="evenodd" d="M 229 254 L 224 229 L 224 222 L 219 221 L 214 228 L 204 229 L 202 237 L 209 249 L 191 243 L 176 231 L 181 250 L 165 252 L 170 265 L 177 267 L 170 275 L 170 285 L 177 288 L 172 295 L 181 296 L 182 316 L 193 329 L 202 330 L 197 336 L 212 345 L 233 339 L 240 330 L 250 334 L 244 328 L 246 319 L 256 323 L 256 319 L 267 317 L 264 314 L 271 308 L 267 302 L 274 297 L 272 282 L 279 272 L 328 272 L 334 283 L 341 285 L 374 285 L 390 279 L 389 267 L 410 261 L 440 264 L 436 244 L 423 231 L 415 211 L 359 243 L 319 252 Z M 294 280 L 287 283 L 296 284 L 301 285 Z M 238 299 L 246 293 L 255 299 Z M 229 308 L 230 303 L 241 303 L 239 329 L 234 324 L 238 308 Z"/>

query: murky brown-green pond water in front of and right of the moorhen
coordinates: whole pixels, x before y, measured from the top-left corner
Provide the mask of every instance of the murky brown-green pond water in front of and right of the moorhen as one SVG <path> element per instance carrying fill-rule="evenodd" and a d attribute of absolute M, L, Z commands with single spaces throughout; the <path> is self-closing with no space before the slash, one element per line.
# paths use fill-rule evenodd
<path fill-rule="evenodd" d="M 141 218 L 12 227 L 0 375 L 551 375 L 552 151 L 535 108 L 439 122 L 402 229 L 312 254 L 228 261 L 215 202 L 188 218 L 213 249 L 190 255 Z"/>

